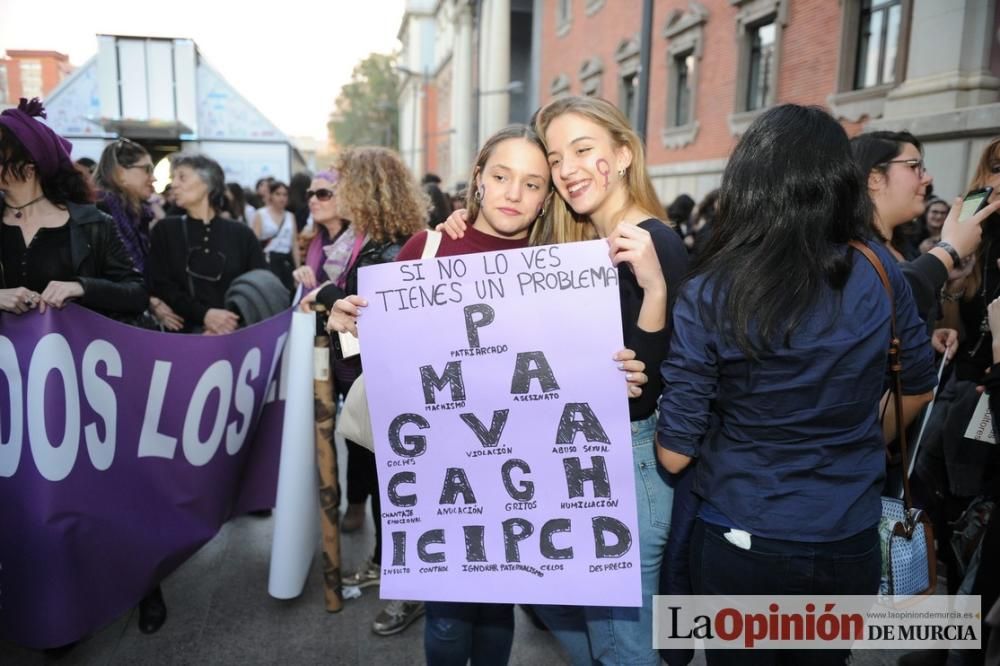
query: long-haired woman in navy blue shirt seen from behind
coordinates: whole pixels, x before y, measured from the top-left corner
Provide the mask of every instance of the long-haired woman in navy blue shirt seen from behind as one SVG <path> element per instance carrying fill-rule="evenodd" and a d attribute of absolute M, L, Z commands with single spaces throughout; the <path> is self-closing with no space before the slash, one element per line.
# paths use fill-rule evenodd
<path fill-rule="evenodd" d="M 657 426 L 664 467 L 699 459 L 695 594 L 878 591 L 890 304 L 850 241 L 867 242 L 889 275 L 905 412 L 930 400 L 935 375 L 910 289 L 871 223 L 847 135 L 821 109 L 765 112 L 729 160 L 715 234 L 674 306 Z M 778 660 L 708 655 L 710 664 Z"/>

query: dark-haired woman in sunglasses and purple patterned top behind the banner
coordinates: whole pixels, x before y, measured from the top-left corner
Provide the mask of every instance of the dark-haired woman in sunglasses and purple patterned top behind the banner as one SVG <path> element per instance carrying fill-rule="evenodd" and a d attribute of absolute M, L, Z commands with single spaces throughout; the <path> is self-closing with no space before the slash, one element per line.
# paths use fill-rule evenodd
<path fill-rule="evenodd" d="M 155 181 L 153 159 L 145 148 L 128 139 L 109 144 L 94 172 L 99 188 L 97 207 L 114 219 L 122 244 L 140 273 L 146 272 L 149 257 L 153 211 L 148 200 Z M 179 331 L 184 325 L 184 320 L 155 296 L 149 299 L 149 310 L 167 330 Z"/>

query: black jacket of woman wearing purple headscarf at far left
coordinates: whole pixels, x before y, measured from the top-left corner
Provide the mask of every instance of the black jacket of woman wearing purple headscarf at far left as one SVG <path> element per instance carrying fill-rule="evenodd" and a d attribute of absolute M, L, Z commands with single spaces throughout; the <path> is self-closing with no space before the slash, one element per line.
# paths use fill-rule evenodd
<path fill-rule="evenodd" d="M 149 304 L 142 275 L 125 251 L 115 222 L 92 204 L 67 204 L 73 272 L 83 286 L 80 305 L 106 315 L 137 315 Z M 10 289 L 0 271 L 0 288 Z"/>

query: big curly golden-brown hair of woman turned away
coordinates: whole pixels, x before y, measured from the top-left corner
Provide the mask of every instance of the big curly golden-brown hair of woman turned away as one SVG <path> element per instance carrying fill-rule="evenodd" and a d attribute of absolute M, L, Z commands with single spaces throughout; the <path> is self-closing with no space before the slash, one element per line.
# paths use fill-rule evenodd
<path fill-rule="evenodd" d="M 431 200 L 394 151 L 348 148 L 336 169 L 342 216 L 372 240 L 402 242 L 426 228 Z"/>

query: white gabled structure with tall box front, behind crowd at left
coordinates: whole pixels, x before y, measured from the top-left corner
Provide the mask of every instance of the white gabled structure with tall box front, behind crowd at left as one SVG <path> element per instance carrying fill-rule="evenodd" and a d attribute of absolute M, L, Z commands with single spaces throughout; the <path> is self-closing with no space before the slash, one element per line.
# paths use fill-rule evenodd
<path fill-rule="evenodd" d="M 97 55 L 45 101 L 48 124 L 73 142 L 73 159 L 97 160 L 127 137 L 154 160 L 177 150 L 218 161 L 227 181 L 288 182 L 305 169 L 289 138 L 244 99 L 190 39 L 98 35 Z"/>

